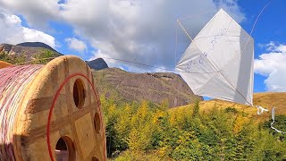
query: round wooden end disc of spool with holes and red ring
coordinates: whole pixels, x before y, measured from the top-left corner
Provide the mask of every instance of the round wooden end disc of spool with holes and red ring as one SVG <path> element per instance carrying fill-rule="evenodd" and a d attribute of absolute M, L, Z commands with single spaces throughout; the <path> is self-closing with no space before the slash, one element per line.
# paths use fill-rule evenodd
<path fill-rule="evenodd" d="M 60 56 L 43 66 L 29 82 L 15 115 L 16 160 L 106 160 L 103 114 L 94 84 L 88 65 L 76 56 Z"/>

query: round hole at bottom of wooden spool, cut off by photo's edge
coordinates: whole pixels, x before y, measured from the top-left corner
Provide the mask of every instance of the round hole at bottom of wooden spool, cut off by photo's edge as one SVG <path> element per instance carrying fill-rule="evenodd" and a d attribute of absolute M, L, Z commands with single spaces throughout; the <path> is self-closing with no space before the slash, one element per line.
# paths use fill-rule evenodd
<path fill-rule="evenodd" d="M 60 138 L 55 146 L 56 161 L 74 161 L 75 148 L 72 140 L 68 137 Z"/>

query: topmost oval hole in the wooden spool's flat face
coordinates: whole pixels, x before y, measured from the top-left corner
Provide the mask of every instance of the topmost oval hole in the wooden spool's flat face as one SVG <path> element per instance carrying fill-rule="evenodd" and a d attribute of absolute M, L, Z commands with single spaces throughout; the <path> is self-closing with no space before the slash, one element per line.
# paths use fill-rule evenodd
<path fill-rule="evenodd" d="M 73 101 L 75 106 L 82 108 L 85 102 L 85 89 L 82 80 L 77 79 L 73 85 Z"/>

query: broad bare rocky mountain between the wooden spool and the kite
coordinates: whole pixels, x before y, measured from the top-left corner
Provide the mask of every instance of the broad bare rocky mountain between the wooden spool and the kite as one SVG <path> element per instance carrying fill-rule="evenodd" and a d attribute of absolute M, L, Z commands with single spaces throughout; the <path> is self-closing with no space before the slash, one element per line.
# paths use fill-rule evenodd
<path fill-rule="evenodd" d="M 166 101 L 170 107 L 203 100 L 203 97 L 193 94 L 181 76 L 170 72 L 133 73 L 106 68 L 95 71 L 94 78 L 99 93 L 115 100 L 148 100 L 156 104 Z"/>

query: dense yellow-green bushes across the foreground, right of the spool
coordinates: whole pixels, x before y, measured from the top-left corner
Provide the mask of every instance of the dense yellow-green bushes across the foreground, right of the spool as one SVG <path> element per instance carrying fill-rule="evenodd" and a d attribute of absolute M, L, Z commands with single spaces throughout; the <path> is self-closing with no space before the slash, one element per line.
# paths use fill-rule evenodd
<path fill-rule="evenodd" d="M 234 107 L 168 108 L 101 97 L 110 160 L 285 160 L 285 135 Z M 286 130 L 286 116 L 276 115 Z"/>

